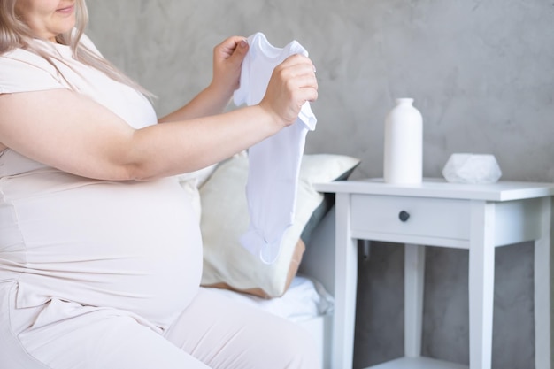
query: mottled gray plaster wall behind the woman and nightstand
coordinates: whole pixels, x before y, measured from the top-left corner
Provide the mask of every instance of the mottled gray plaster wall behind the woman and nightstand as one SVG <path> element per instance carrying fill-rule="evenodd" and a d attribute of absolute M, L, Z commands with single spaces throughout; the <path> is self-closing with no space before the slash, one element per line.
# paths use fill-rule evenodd
<path fill-rule="evenodd" d="M 383 121 L 396 97 L 424 117 L 424 175 L 453 152 L 494 154 L 504 180 L 554 181 L 552 0 L 118 0 L 88 2 L 88 35 L 159 96 L 160 114 L 211 78 L 212 47 L 263 31 L 318 68 L 319 118 L 306 152 L 363 160 L 382 175 Z M 355 367 L 402 355 L 404 249 L 360 261 Z M 533 248 L 497 250 L 493 367 L 534 367 Z M 467 253 L 428 248 L 424 353 L 468 361 Z"/>

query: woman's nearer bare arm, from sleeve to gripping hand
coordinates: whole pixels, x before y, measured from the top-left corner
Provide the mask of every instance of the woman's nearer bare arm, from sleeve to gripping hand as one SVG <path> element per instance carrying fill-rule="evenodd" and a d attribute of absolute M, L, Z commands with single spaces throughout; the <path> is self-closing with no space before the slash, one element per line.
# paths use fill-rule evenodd
<path fill-rule="evenodd" d="M 317 98 L 317 87 L 312 62 L 296 55 L 275 68 L 258 105 L 142 129 L 67 89 L 4 94 L 0 142 L 68 173 L 147 180 L 217 163 L 277 133 Z"/>

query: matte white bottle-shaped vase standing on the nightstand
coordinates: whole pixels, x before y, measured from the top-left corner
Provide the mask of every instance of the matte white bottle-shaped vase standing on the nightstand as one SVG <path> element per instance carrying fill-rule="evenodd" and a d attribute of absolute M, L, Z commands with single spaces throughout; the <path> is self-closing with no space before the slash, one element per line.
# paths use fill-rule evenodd
<path fill-rule="evenodd" d="M 387 183 L 421 183 L 423 119 L 412 104 L 412 98 L 396 99 L 385 120 L 383 176 Z"/>

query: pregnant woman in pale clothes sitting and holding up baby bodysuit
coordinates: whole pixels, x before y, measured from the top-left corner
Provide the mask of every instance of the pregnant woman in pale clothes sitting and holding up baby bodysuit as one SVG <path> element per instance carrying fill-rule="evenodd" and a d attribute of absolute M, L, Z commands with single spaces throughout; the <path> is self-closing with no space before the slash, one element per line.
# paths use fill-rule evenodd
<path fill-rule="evenodd" d="M 317 98 L 309 58 L 223 112 L 243 37 L 210 85 L 158 119 L 83 35 L 84 0 L 0 0 L 0 368 L 319 368 L 286 320 L 199 289 L 202 240 L 174 174 L 292 124 Z"/>

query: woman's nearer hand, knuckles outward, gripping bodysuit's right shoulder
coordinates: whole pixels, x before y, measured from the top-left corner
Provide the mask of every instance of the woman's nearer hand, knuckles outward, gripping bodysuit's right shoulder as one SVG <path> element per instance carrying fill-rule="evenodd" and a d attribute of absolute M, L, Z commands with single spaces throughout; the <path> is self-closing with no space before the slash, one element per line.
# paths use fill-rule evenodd
<path fill-rule="evenodd" d="M 292 55 L 273 69 L 265 96 L 259 103 L 281 127 L 298 118 L 302 105 L 318 98 L 318 81 L 310 58 Z"/>

